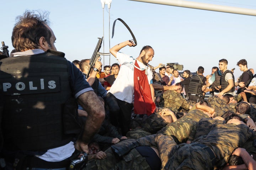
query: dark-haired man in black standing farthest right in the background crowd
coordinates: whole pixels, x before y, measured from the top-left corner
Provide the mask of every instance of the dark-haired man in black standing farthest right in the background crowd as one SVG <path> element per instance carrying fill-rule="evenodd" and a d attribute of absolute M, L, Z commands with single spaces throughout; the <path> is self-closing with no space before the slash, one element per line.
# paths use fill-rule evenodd
<path fill-rule="evenodd" d="M 239 60 L 239 62 L 236 64 L 239 66 L 239 69 L 243 72 L 240 78 L 238 79 L 238 82 L 235 83 L 235 86 L 239 86 L 240 89 L 238 89 L 237 94 L 243 92 L 245 90 L 245 87 L 248 87 L 252 78 L 254 75 L 247 67 L 247 61 L 245 59 Z M 247 101 L 249 101 L 251 94 L 245 93 Z"/>

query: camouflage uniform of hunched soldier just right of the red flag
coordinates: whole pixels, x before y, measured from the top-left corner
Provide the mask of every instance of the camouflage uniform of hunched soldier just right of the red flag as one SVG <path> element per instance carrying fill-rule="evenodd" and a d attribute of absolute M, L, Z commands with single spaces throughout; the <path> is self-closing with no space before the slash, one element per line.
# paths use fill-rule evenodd
<path fill-rule="evenodd" d="M 180 107 L 184 108 L 185 110 L 188 110 L 190 107 L 190 103 L 188 103 L 188 101 L 185 98 L 183 98 L 181 94 L 175 90 L 166 90 L 159 97 L 160 97 L 160 103 L 157 103 L 158 107 L 162 107 L 162 108 L 170 107 L 176 110 L 178 110 Z"/>

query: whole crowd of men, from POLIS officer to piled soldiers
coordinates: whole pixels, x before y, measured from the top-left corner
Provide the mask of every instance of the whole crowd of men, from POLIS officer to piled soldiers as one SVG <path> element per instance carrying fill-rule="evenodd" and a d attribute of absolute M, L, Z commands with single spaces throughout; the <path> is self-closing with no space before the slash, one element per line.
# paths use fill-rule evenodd
<path fill-rule="evenodd" d="M 110 49 L 118 63 L 101 72 L 99 57 L 89 72 L 89 58 L 56 51 L 47 17 L 18 16 L 15 50 L 0 61 L 1 169 L 256 169 L 256 75 L 245 59 L 237 82 L 226 59 L 206 77 L 202 66 L 180 75 L 150 66 L 149 45 L 122 53 L 135 46 L 127 40 Z"/>

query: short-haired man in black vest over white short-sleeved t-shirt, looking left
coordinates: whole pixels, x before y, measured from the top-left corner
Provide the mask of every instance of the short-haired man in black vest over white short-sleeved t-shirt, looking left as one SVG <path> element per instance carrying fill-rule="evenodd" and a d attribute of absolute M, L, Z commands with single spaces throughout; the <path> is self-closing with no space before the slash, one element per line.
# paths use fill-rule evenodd
<path fill-rule="evenodd" d="M 227 69 L 228 61 L 226 59 L 219 60 L 219 70 L 222 71 L 222 77 L 220 78 L 221 90 L 218 94 L 219 97 L 225 94 L 231 94 L 235 96 L 235 78 L 233 72 Z"/>

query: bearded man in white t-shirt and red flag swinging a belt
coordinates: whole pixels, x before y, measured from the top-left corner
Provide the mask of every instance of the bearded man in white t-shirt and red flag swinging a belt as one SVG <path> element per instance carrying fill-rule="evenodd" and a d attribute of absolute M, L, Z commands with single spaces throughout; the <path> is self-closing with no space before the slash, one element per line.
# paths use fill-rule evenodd
<path fill-rule="evenodd" d="M 119 127 L 122 135 L 129 130 L 130 117 L 133 108 L 135 114 L 150 115 L 155 111 L 153 73 L 147 66 L 154 57 L 154 50 L 151 46 L 144 46 L 139 56 L 134 59 L 130 55 L 119 52 L 125 46 L 135 46 L 133 41 L 124 41 L 110 49 L 111 54 L 121 64 L 118 77 L 114 81 L 107 97 L 115 101 L 119 118 Z M 113 110 L 112 110 L 113 111 Z M 112 112 L 110 111 L 110 112 Z"/>

